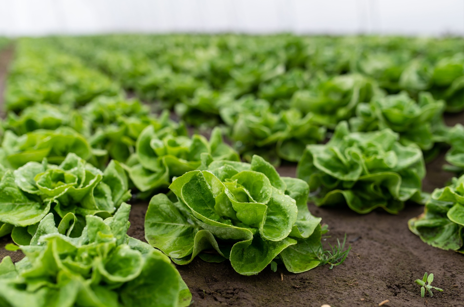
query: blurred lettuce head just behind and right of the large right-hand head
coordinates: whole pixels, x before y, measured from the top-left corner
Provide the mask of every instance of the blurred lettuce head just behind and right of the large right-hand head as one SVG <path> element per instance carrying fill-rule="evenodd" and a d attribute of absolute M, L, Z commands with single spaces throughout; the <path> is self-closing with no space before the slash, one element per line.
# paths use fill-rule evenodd
<path fill-rule="evenodd" d="M 433 148 L 434 144 L 449 141 L 444 109 L 445 102 L 433 99 L 428 92 L 419 92 L 418 102 L 401 92 L 358 104 L 356 117 L 350 118 L 349 123 L 353 131 L 390 128 L 400 134 L 401 144 L 416 144 L 433 158 L 439 152 L 437 147 Z"/>

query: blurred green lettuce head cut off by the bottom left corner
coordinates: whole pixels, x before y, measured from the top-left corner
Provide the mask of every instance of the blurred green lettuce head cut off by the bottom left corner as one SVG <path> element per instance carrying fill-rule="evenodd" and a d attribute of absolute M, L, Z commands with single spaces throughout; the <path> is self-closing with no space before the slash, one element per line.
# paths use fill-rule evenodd
<path fill-rule="evenodd" d="M 0 263 L 2 306 L 188 306 L 192 294 L 169 258 L 126 234 L 129 211 L 122 203 L 114 217 L 87 215 L 77 237 L 46 215 L 19 246 L 26 257 Z"/>

